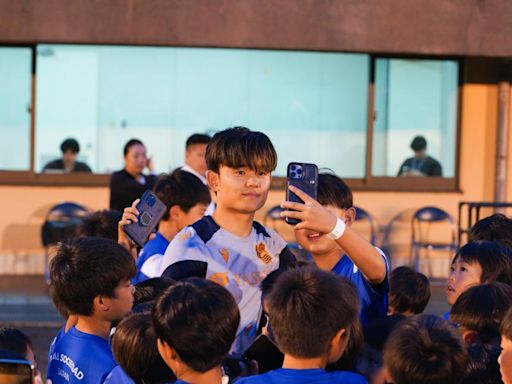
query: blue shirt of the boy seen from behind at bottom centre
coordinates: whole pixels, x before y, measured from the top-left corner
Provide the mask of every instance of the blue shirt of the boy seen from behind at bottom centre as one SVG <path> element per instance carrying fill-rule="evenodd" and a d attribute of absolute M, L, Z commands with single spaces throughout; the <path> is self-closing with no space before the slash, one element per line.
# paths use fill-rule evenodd
<path fill-rule="evenodd" d="M 366 384 L 363 376 L 323 369 L 280 368 L 262 375 L 242 377 L 237 384 Z"/>

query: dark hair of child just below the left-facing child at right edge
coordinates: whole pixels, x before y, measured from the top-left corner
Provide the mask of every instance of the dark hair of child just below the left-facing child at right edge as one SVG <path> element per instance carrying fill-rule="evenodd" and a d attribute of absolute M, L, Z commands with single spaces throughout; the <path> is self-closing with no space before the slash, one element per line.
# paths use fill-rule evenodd
<path fill-rule="evenodd" d="M 504 283 L 482 284 L 463 292 L 450 311 L 450 321 L 475 331 L 484 343 L 500 337 L 500 326 L 512 306 L 512 287 Z"/>

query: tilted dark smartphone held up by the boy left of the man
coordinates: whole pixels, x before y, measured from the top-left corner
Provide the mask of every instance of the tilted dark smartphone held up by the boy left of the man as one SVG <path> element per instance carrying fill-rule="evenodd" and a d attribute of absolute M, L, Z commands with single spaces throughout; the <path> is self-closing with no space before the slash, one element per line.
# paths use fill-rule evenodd
<path fill-rule="evenodd" d="M 123 226 L 123 230 L 135 244 L 143 247 L 151 232 L 155 230 L 160 222 L 167 207 L 153 192 L 147 190 L 140 198 L 137 210 L 139 211 L 138 221 Z"/>

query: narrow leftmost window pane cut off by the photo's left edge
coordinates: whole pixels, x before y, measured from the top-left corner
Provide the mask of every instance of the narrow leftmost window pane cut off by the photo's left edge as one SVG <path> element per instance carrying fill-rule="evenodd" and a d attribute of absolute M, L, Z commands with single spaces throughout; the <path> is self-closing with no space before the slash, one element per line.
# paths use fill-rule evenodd
<path fill-rule="evenodd" d="M 32 50 L 1 47 L 0 170 L 30 169 L 31 94 Z"/>

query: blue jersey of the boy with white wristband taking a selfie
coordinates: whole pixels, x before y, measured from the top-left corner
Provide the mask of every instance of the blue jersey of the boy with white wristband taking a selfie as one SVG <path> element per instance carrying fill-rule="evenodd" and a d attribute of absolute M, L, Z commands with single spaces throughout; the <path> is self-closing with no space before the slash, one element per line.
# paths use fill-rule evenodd
<path fill-rule="evenodd" d="M 332 269 L 332 272 L 338 276 L 346 277 L 356 286 L 361 304 L 360 319 L 363 326 L 372 320 L 386 316 L 388 313 L 389 267 L 384 253 L 378 248 L 377 250 L 386 263 L 386 278 L 379 285 L 373 285 L 368 282 L 347 255 L 344 255 Z"/>

